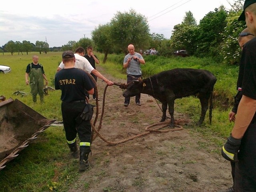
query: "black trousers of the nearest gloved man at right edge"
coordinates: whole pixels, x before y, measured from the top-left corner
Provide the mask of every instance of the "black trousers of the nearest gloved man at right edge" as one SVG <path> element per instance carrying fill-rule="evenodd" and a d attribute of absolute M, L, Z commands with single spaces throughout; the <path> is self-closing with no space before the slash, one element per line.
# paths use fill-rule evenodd
<path fill-rule="evenodd" d="M 256 192 L 256 121 L 248 126 L 235 165 L 235 191 Z"/>

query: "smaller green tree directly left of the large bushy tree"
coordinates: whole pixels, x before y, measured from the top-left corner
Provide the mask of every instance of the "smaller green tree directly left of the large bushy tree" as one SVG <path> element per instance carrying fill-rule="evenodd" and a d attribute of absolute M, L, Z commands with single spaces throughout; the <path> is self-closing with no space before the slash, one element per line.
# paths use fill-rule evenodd
<path fill-rule="evenodd" d="M 108 54 L 114 48 L 110 32 L 110 24 L 99 25 L 92 31 L 92 40 L 96 45 L 96 49 L 104 53 L 103 63 L 106 62 Z"/>

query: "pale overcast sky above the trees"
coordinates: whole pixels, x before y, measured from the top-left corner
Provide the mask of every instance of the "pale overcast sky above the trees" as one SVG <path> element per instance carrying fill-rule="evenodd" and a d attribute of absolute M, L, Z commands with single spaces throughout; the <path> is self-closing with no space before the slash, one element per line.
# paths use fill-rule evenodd
<path fill-rule="evenodd" d="M 191 11 L 197 23 L 215 8 L 234 0 L 4 0 L 0 4 L 0 46 L 8 41 L 36 43 L 50 47 L 68 41 L 91 38 L 99 24 L 106 24 L 119 12 L 134 9 L 148 18 L 150 33 L 170 38 L 173 27 Z"/>

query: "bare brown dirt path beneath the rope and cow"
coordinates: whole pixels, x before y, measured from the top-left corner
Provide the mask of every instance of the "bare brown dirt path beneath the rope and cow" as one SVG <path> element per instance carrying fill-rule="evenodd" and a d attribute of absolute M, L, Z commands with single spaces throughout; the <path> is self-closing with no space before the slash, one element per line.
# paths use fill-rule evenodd
<path fill-rule="evenodd" d="M 110 80 L 125 83 L 98 69 Z M 101 113 L 106 84 L 101 80 L 97 84 Z M 100 134 L 117 142 L 159 122 L 162 112 L 154 98 L 142 94 L 141 103 L 136 106 L 133 97 L 124 107 L 122 90 L 108 87 Z M 190 127 L 194 122 L 186 116 L 176 112 L 175 118 L 183 130 L 152 133 L 115 146 L 97 137 L 91 146 L 89 170 L 81 173 L 69 192 L 218 192 L 230 187 L 229 162 L 211 152 L 220 149 L 194 132 Z"/>

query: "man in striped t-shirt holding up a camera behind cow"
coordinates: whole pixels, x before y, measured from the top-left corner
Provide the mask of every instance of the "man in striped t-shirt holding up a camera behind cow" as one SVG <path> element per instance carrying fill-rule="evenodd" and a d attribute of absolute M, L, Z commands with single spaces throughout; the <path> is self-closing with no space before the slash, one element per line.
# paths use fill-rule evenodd
<path fill-rule="evenodd" d="M 135 52 L 134 45 L 128 45 L 129 53 L 124 57 L 124 68 L 126 68 L 127 73 L 127 84 L 132 81 L 133 77 L 142 78 L 142 72 L 140 64 L 145 64 L 145 60 L 141 54 Z M 135 96 L 135 102 L 138 106 L 140 104 L 140 94 Z M 128 107 L 130 103 L 130 97 L 124 99 L 124 106 Z"/>

